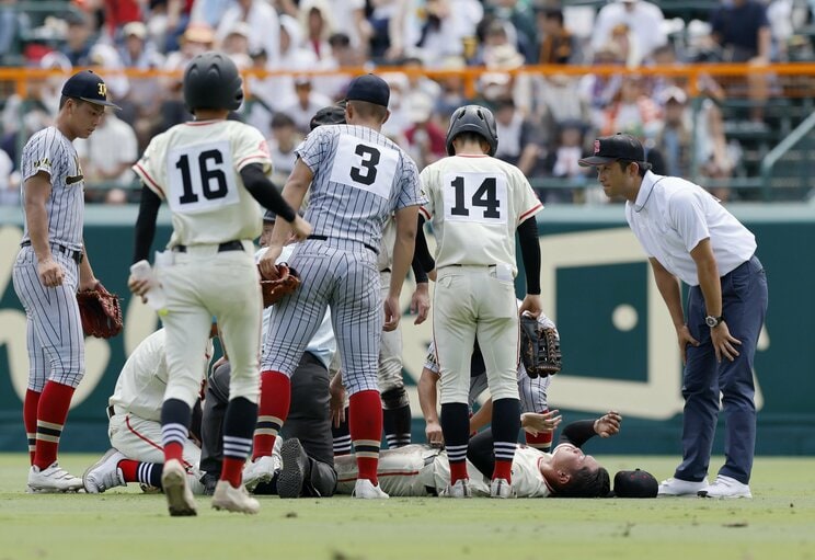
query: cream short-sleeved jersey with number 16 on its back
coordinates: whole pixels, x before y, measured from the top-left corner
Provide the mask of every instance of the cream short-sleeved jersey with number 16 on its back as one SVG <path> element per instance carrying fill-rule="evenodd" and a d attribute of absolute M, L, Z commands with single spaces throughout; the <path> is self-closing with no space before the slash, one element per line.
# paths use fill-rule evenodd
<path fill-rule="evenodd" d="M 193 121 L 156 136 L 133 167 L 167 199 L 173 220 L 169 247 L 222 243 L 261 235 L 262 215 L 240 170 L 272 160 L 256 128 L 236 121 Z"/>

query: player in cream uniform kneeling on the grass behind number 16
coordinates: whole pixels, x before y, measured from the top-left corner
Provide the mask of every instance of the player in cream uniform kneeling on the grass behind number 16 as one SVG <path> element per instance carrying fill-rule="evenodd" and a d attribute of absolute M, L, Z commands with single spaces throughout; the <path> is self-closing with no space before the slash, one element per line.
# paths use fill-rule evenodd
<path fill-rule="evenodd" d="M 217 334 L 215 323 L 209 334 Z M 200 357 L 203 380 L 213 357 L 211 341 Z M 85 492 L 97 494 L 128 482 L 161 488 L 164 466 L 161 405 L 167 379 L 167 336 L 164 329 L 159 329 L 136 346 L 122 368 L 113 396 L 107 401 L 107 434 L 112 448 L 85 470 L 82 476 Z M 183 458 L 190 489 L 203 494 L 198 471 L 200 449 L 193 439 L 184 443 Z"/>

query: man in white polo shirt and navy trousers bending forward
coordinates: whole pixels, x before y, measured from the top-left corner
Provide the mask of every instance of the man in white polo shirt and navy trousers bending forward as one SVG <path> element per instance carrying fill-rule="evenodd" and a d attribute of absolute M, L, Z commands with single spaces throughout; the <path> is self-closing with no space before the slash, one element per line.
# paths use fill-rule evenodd
<path fill-rule="evenodd" d="M 609 197 L 625 198 L 625 218 L 654 271 L 685 361 L 682 462 L 661 496 L 751 498 L 756 442 L 753 361 L 767 312 L 767 277 L 756 239 L 710 193 L 648 171 L 629 135 L 598 138 L 582 165 L 597 168 Z M 687 317 L 679 283 L 690 286 Z M 708 483 L 722 392 L 725 464 Z"/>

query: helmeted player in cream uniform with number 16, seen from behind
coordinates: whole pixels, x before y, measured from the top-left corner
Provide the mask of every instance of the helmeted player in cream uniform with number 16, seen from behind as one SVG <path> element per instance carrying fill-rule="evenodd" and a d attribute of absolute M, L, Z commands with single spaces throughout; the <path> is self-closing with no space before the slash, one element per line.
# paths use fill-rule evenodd
<path fill-rule="evenodd" d="M 261 290 L 252 239 L 261 232 L 255 201 L 291 224 L 305 239 L 310 226 L 266 178 L 272 162 L 263 135 L 227 121 L 243 101 L 242 80 L 220 53 L 196 56 L 184 72 L 184 100 L 195 121 L 172 127 L 150 141 L 134 170 L 145 184 L 136 224 L 134 261 L 146 259 L 156 216 L 165 198 L 173 220 L 168 251 L 157 256 L 156 277 L 167 293 L 169 379 L 161 411 L 164 470 L 161 483 L 171 515 L 195 515 L 183 466 L 184 443 L 215 316 L 230 358 L 230 401 L 223 427 L 223 467 L 213 507 L 257 513 L 260 504 L 241 483 L 257 415 Z M 145 295 L 151 281 L 129 281 Z"/>

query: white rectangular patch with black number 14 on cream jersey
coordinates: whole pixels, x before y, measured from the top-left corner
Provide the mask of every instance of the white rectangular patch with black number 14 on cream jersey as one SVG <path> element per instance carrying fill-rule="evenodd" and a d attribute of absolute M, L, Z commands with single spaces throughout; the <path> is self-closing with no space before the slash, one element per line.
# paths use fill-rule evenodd
<path fill-rule="evenodd" d="M 506 179 L 491 173 L 449 173 L 445 176 L 445 219 L 505 224 Z"/>

